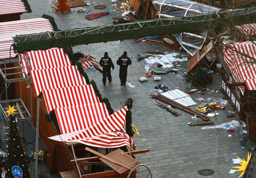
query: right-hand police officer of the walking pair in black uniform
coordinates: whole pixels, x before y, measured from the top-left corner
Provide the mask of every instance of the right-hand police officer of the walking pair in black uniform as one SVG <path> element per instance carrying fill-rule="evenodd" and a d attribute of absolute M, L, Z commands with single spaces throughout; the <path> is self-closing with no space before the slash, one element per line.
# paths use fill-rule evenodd
<path fill-rule="evenodd" d="M 127 52 L 124 51 L 123 55 L 118 58 L 117 65 L 120 66 L 119 69 L 119 78 L 121 81 L 121 86 L 126 85 L 126 77 L 127 77 L 127 68 L 128 65 L 131 65 L 132 61 L 129 57 L 127 57 Z"/>

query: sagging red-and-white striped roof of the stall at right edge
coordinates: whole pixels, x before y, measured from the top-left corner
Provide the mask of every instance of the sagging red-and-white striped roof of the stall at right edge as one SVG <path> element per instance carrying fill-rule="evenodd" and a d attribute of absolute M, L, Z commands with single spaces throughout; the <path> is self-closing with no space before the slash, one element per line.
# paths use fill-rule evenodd
<path fill-rule="evenodd" d="M 224 49 L 224 60 L 228 64 L 235 82 L 245 82 L 249 90 L 256 90 L 256 45 L 252 42 L 228 43 L 231 48 Z M 250 56 L 250 57 L 246 57 Z M 244 87 L 239 87 L 244 95 Z"/>

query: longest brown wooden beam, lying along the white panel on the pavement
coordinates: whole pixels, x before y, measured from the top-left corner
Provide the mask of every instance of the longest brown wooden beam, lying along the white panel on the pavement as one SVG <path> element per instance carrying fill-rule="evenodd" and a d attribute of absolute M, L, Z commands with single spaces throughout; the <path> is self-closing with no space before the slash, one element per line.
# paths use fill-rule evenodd
<path fill-rule="evenodd" d="M 162 100 L 170 105 L 173 105 L 175 107 L 177 107 L 178 109 L 181 109 L 185 112 L 188 112 L 192 115 L 197 115 L 197 117 L 203 119 L 204 121 L 209 121 L 209 117 L 205 116 L 205 115 L 202 115 L 201 113 L 197 112 L 197 111 L 193 111 L 191 108 L 187 107 L 187 106 L 184 106 L 184 105 L 181 105 L 179 104 L 178 102 L 174 101 L 174 100 L 169 100 L 167 98 L 165 98 L 164 96 L 161 96 L 161 95 L 153 95 L 151 94 L 150 96 L 152 96 L 153 98 L 157 98 L 159 100 Z"/>

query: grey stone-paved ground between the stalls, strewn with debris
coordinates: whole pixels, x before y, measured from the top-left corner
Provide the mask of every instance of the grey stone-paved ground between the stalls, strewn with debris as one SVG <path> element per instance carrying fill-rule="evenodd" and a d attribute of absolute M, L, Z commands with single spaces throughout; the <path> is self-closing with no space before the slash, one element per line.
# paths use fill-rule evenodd
<path fill-rule="evenodd" d="M 68 30 L 75 28 L 105 26 L 113 23 L 113 16 L 121 15 L 119 6 L 121 1 L 112 2 L 107 0 L 91 0 L 87 1 L 91 5 L 88 6 L 88 13 L 86 12 L 71 12 L 66 14 L 56 15 L 52 12 L 52 5 L 49 0 L 28 0 L 32 13 L 24 13 L 21 19 L 41 17 L 43 14 L 54 17 L 55 22 L 60 30 Z M 115 9 L 112 5 L 117 4 Z M 106 5 L 106 9 L 96 10 L 94 6 Z M 110 11 L 110 15 L 106 15 L 94 20 L 86 20 L 85 16 L 90 13 L 106 12 L 108 9 L 116 10 Z M 76 8 L 72 9 L 73 11 Z M 85 39 L 86 40 L 86 39 Z M 156 105 L 156 99 L 151 98 L 150 94 L 155 94 L 154 87 L 158 84 L 166 85 L 169 90 L 179 87 L 184 91 L 190 91 L 185 84 L 183 75 L 185 69 L 177 69 L 177 73 L 167 73 L 162 75 L 161 82 L 151 81 L 140 82 L 139 77 L 144 77 L 146 68 L 159 70 L 157 64 L 146 63 L 146 60 L 138 61 L 135 57 L 139 54 L 137 51 L 161 51 L 161 52 L 174 52 L 163 46 L 161 43 L 153 43 L 150 45 L 145 42 L 134 43 L 134 40 L 123 41 L 109 41 L 107 43 L 97 43 L 89 45 L 74 46 L 74 52 L 82 52 L 85 55 L 92 55 L 97 60 L 104 55 L 107 51 L 108 55 L 112 58 L 115 65 L 112 70 L 112 82 L 102 84 L 102 73 L 96 69 L 87 69 L 86 73 L 90 80 L 94 80 L 98 89 L 102 94 L 102 98 L 109 99 L 110 104 L 114 111 L 119 110 L 122 104 L 128 99 L 133 99 L 132 117 L 133 123 L 139 129 L 140 137 L 134 135 L 133 139 L 137 144 L 137 149 L 150 149 L 146 154 L 136 155 L 137 160 L 147 165 L 154 178 L 203 178 L 198 174 L 199 170 L 212 169 L 214 174 L 207 176 L 214 177 L 238 177 L 241 172 L 229 174 L 233 165 L 232 159 L 239 156 L 240 158 L 247 158 L 247 151 L 241 149 L 240 139 L 245 135 L 240 135 L 242 125 L 235 126 L 233 129 L 237 131 L 227 133 L 221 125 L 229 125 L 230 122 L 238 121 L 238 118 L 227 118 L 232 112 L 230 107 L 226 104 L 224 110 L 219 110 L 216 117 L 210 118 L 214 124 L 210 124 L 210 128 L 203 129 L 203 126 L 190 126 L 187 123 L 195 119 L 193 115 L 186 113 L 182 110 L 176 109 L 182 115 L 175 116 L 165 111 Z M 68 44 L 67 44 L 68 45 Z M 116 61 L 119 56 L 127 51 L 127 54 L 132 58 L 132 65 L 128 67 L 127 84 L 120 87 L 119 81 L 119 66 Z M 181 52 L 181 54 L 183 54 Z M 167 70 L 171 70 L 169 68 Z M 221 74 L 214 71 L 214 83 L 210 85 L 211 89 L 221 89 Z M 197 103 L 210 103 L 216 101 L 217 103 L 227 103 L 222 93 L 210 93 L 202 95 L 201 93 L 192 93 L 191 98 Z M 192 106 L 194 109 L 195 106 Z M 183 124 L 184 123 L 184 124 Z M 215 126 L 215 127 L 214 127 Z M 231 137 L 230 137 L 230 136 Z M 43 163 L 41 167 L 45 169 Z M 33 171 L 33 165 L 31 170 Z M 140 170 L 141 168 L 139 168 Z M 51 175 L 55 177 L 56 175 Z M 140 174 L 138 177 L 146 177 L 145 174 Z"/>

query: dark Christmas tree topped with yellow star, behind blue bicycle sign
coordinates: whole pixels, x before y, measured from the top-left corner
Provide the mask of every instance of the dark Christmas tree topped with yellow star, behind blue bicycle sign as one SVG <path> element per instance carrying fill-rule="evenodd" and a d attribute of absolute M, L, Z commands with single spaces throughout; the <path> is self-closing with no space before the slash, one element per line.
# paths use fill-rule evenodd
<path fill-rule="evenodd" d="M 10 118 L 10 130 L 9 130 L 9 143 L 7 151 L 7 159 L 5 164 L 5 177 L 6 178 L 28 178 L 30 176 L 30 170 L 27 166 L 26 154 L 23 150 L 23 144 L 21 143 L 20 135 L 18 133 L 18 126 L 15 122 L 14 113 L 16 109 L 14 106 L 6 108 L 8 117 Z"/>

